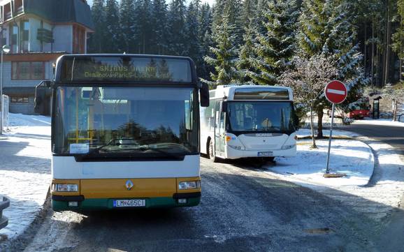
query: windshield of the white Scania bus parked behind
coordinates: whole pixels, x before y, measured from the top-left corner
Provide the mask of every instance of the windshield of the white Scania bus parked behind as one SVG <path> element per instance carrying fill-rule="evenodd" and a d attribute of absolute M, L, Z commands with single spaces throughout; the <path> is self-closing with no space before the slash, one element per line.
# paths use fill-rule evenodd
<path fill-rule="evenodd" d="M 229 102 L 227 114 L 231 131 L 295 131 L 290 102 Z"/>

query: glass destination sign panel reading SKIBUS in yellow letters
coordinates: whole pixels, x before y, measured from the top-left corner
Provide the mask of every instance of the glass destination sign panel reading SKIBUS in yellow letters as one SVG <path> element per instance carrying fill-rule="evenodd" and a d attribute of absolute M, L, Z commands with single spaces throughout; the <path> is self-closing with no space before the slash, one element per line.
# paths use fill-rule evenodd
<path fill-rule="evenodd" d="M 192 82 L 190 61 L 159 57 L 69 57 L 62 82 Z"/>

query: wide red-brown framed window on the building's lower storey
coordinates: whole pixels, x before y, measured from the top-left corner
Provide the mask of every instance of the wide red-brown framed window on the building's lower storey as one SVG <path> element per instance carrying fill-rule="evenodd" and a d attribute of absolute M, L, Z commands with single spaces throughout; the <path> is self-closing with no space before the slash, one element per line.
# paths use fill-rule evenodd
<path fill-rule="evenodd" d="M 11 80 L 45 79 L 45 62 L 13 62 Z"/>

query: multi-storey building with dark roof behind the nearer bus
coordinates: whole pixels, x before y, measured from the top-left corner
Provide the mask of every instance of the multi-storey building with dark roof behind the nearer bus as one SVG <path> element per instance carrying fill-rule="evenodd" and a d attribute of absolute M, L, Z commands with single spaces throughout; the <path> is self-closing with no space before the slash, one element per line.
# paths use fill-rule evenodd
<path fill-rule="evenodd" d="M 62 54 L 85 53 L 94 24 L 86 0 L 0 0 L 3 94 L 9 111 L 34 114 L 35 87 Z"/>

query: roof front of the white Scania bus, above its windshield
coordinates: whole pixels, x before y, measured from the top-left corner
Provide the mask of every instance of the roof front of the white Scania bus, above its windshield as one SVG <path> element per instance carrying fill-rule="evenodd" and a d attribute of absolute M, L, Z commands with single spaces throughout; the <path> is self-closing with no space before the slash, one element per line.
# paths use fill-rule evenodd
<path fill-rule="evenodd" d="M 210 90 L 210 98 L 225 98 L 226 101 L 293 101 L 290 87 L 261 85 L 217 86 Z"/>

